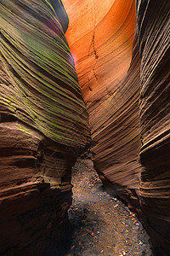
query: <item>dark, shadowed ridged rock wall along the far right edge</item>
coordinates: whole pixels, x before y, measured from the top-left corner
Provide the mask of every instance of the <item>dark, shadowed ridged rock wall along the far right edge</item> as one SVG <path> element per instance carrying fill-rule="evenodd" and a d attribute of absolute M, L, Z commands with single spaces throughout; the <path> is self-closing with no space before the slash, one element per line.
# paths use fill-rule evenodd
<path fill-rule="evenodd" d="M 170 253 L 170 2 L 137 1 L 141 207 L 157 255 Z"/>

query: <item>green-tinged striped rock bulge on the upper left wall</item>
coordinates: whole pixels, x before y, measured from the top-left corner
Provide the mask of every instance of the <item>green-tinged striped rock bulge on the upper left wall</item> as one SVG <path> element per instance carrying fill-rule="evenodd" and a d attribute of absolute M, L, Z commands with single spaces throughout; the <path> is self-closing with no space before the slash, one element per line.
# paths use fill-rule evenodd
<path fill-rule="evenodd" d="M 1 109 L 57 143 L 84 147 L 88 115 L 54 9 L 48 1 L 2 0 L 0 7 L 1 58 L 11 84 L 1 89 Z"/>

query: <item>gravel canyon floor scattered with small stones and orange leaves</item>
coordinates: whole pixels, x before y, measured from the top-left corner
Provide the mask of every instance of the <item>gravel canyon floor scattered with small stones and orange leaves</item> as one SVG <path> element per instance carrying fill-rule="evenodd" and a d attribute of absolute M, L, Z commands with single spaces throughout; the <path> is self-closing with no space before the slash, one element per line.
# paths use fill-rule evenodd
<path fill-rule="evenodd" d="M 133 212 L 103 189 L 91 160 L 77 160 L 72 172 L 67 256 L 153 256 L 150 238 Z"/>

